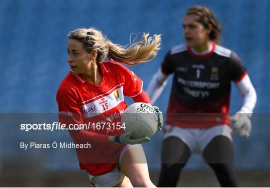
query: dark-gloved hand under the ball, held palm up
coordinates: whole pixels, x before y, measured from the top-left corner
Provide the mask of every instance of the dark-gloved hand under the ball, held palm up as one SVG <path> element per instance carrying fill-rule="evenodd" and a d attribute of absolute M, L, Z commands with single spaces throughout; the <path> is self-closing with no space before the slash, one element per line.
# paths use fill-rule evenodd
<path fill-rule="evenodd" d="M 136 137 L 136 138 L 131 138 L 132 132 L 125 132 L 122 133 L 120 136 L 114 136 L 114 144 L 142 144 L 145 142 L 150 141 L 151 139 L 147 136 L 143 137 Z"/>

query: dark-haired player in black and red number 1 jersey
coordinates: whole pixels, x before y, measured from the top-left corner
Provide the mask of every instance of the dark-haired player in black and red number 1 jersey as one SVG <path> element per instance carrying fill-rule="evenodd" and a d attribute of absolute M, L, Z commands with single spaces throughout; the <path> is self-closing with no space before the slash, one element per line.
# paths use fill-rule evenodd
<path fill-rule="evenodd" d="M 234 132 L 250 134 L 256 92 L 237 54 L 218 45 L 221 26 L 204 6 L 187 9 L 182 22 L 186 44 L 172 47 L 146 92 L 152 102 L 170 74 L 172 88 L 166 112 L 158 186 L 176 186 L 192 153 L 201 153 L 221 186 L 238 186 L 233 171 Z M 242 97 L 242 107 L 229 117 L 230 82 Z"/>

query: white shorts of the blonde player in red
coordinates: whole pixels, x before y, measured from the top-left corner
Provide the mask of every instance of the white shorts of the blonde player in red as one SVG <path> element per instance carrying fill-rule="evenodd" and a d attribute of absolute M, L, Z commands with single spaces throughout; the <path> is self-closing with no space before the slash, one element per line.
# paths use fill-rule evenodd
<path fill-rule="evenodd" d="M 128 149 L 131 149 L 131 148 L 143 149 L 141 144 L 134 144 L 134 145 L 126 144 L 120 152 L 119 163 L 120 163 L 120 160 L 121 160 L 123 154 L 125 153 L 125 151 Z M 116 166 L 110 172 L 107 172 L 107 173 L 102 174 L 102 175 L 98 175 L 98 176 L 93 176 L 90 174 L 88 174 L 88 175 L 90 178 L 90 182 L 94 187 L 112 187 L 112 186 L 115 186 L 116 184 L 118 184 L 119 182 L 121 182 L 122 179 L 124 178 L 124 174 L 120 170 L 119 165 Z"/>

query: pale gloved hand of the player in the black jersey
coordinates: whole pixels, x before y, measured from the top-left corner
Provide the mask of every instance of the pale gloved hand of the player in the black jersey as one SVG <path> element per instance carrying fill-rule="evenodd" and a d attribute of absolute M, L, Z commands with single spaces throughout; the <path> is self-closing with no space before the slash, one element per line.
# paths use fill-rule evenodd
<path fill-rule="evenodd" d="M 251 132 L 251 117 L 252 113 L 235 113 L 230 117 L 234 121 L 233 131 L 240 137 L 248 137 Z"/>

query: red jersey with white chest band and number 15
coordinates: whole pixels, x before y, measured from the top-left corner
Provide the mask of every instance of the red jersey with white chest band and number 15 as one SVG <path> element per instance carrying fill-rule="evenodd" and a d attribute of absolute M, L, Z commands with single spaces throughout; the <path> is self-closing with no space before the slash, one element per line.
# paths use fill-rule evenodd
<path fill-rule="evenodd" d="M 99 67 L 103 75 L 99 85 L 89 83 L 81 75 L 70 71 L 56 95 L 59 121 L 65 123 L 66 128 L 75 128 L 69 126 L 70 123 L 87 125 L 83 131 L 90 133 L 88 142 L 91 148 L 76 148 L 76 153 L 80 168 L 95 176 L 117 166 L 119 153 L 125 144 L 107 144 L 108 135 L 123 133 L 122 129 L 116 128 L 116 122 L 120 122 L 121 114 L 127 107 L 124 96 L 135 97 L 142 92 L 142 80 L 122 64 L 104 61 Z M 99 128 L 97 122 L 107 123 Z M 79 142 L 75 131 L 69 130 L 74 141 Z"/>

